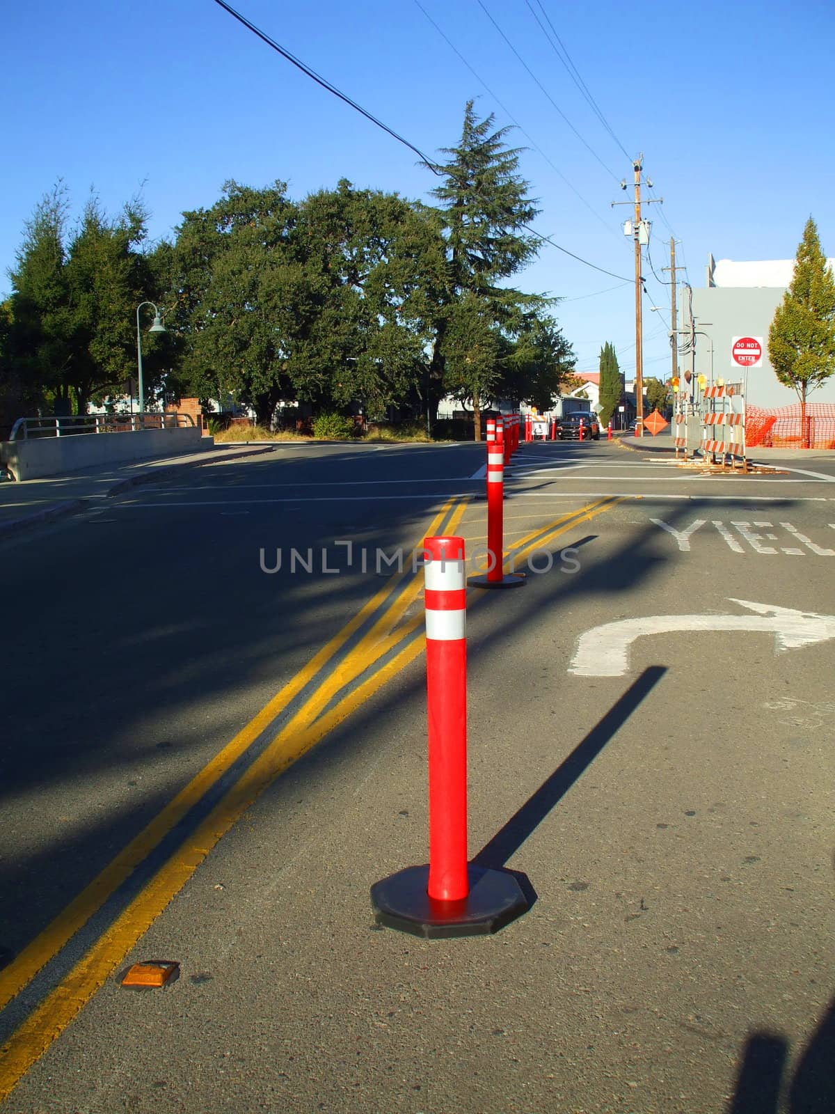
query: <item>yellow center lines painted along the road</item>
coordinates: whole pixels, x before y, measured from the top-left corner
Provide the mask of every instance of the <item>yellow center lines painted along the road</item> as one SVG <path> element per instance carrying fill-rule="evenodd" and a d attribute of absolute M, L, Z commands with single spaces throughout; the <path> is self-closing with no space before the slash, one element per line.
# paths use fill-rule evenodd
<path fill-rule="evenodd" d="M 563 515 L 527 535 L 509 553 L 519 560 L 583 519 L 609 509 L 617 499 L 603 499 L 579 511 Z M 454 534 L 468 500 L 449 500 L 422 534 Z M 89 919 L 117 893 L 131 873 L 166 836 L 206 797 L 219 779 L 258 737 L 317 678 L 320 683 L 302 701 L 265 749 L 249 763 L 220 801 L 193 829 L 140 892 L 96 939 L 69 975 L 50 990 L 0 1048 L 0 1102 L 21 1076 L 46 1052 L 85 1003 L 110 977 L 138 939 L 185 886 L 225 832 L 275 779 L 306 751 L 333 731 L 397 672 L 414 661 L 424 647 L 416 636 L 423 616 L 404 620 L 423 588 L 423 577 L 405 568 L 350 619 L 273 700 L 167 804 L 150 823 L 39 934 L 16 959 L 0 971 L 0 1010 L 50 962 Z M 387 605 L 387 606 L 386 606 Z M 374 616 L 379 617 L 374 619 Z M 373 622 L 371 622 L 373 619 Z M 356 644 L 326 668 L 353 635 L 371 622 Z M 376 666 L 374 668 L 374 666 Z M 367 676 L 366 676 L 367 674 Z M 347 691 L 346 691 L 347 690 Z"/>

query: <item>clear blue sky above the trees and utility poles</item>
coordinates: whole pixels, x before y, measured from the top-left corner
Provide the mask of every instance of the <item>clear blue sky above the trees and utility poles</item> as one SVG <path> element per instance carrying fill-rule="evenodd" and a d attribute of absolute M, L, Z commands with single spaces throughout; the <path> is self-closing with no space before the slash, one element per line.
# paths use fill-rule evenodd
<path fill-rule="evenodd" d="M 610 202 L 630 196 L 619 182 L 631 182 L 630 159 L 639 152 L 651 195 L 664 197 L 645 214 L 652 219 L 650 254 L 660 278 L 669 277 L 660 268 L 669 263 L 671 229 L 680 241 L 677 262 L 687 264 L 694 286 L 705 283 L 708 252 L 737 260 L 794 256 L 809 214 L 824 251 L 835 255 L 829 0 L 790 7 L 775 0 L 637 7 L 542 0 L 630 158 L 543 36 L 531 12 L 544 22 L 538 0 L 420 3 L 478 78 L 415 0 L 237 0 L 233 7 L 430 156 L 456 141 L 470 97 L 482 115 L 495 113 L 497 125 L 515 120 L 527 135 L 517 131 L 510 141 L 530 148 L 521 173 L 542 209 L 537 229 L 625 280 L 633 274 L 631 241 L 621 231 L 630 212 Z M 282 179 L 297 198 L 341 177 L 423 199 L 434 185 L 412 152 L 214 0 L 8 6 L 0 88 L 3 294 L 23 223 L 59 177 L 73 214 L 91 187 L 111 212 L 139 192 L 154 238 L 171 236 L 184 209 L 210 205 L 227 178 L 252 186 Z M 666 375 L 669 287 L 646 264 L 645 274 L 645 374 Z M 606 341 L 615 343 L 621 368 L 633 369 L 632 285 L 552 247 L 517 282 L 566 299 L 556 314 L 578 370 L 597 370 Z M 664 314 L 650 305 L 664 306 Z"/>

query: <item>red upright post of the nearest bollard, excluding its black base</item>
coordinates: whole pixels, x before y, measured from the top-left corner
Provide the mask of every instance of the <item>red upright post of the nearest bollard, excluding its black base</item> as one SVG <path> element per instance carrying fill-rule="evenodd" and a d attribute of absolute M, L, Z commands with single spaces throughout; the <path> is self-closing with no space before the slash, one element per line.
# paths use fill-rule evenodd
<path fill-rule="evenodd" d="M 426 538 L 430 898 L 458 901 L 466 877 L 466 588 L 463 538 Z M 501 575 L 501 566 L 499 568 Z"/>

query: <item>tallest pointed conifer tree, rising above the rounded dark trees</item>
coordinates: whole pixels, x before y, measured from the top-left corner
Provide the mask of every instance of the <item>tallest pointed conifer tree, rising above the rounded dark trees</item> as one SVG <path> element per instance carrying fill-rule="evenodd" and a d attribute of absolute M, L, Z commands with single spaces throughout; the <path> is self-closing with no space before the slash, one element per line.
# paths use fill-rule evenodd
<path fill-rule="evenodd" d="M 537 240 L 523 226 L 538 209 L 518 174 L 519 149 L 504 144 L 509 128 L 494 131 L 494 119 L 480 120 L 468 101 L 461 141 L 443 148 L 444 182 L 433 190 L 442 206 L 446 267 L 436 292 L 431 374 L 440 393 L 472 401 L 477 440 L 482 403 L 499 382 L 498 334 L 519 332 L 525 312 L 546 302 L 498 285 L 536 255 Z"/>

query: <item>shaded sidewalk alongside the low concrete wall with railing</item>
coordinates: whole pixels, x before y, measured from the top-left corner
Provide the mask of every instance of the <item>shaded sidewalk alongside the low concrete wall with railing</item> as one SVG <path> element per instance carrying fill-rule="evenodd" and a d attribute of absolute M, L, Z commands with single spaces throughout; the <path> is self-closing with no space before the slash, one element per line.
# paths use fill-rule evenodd
<path fill-rule="evenodd" d="M 0 482 L 0 536 L 61 515 L 71 515 L 86 504 L 107 499 L 137 483 L 163 479 L 171 472 L 273 451 L 272 444 L 264 446 L 263 442 L 249 447 L 214 446 L 184 456 L 82 469 L 39 480 L 4 480 Z"/>

